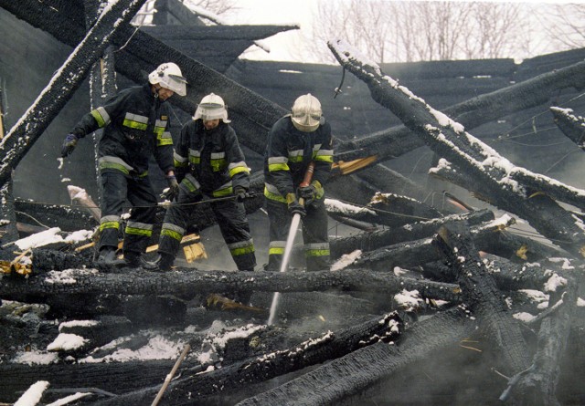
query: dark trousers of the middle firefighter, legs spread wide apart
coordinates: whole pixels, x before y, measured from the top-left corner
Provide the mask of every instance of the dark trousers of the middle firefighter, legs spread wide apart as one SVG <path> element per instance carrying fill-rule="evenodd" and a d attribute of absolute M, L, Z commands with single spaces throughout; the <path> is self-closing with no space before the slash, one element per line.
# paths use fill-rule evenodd
<path fill-rule="evenodd" d="M 176 257 L 192 212 L 200 207 L 189 203 L 198 203 L 202 200 L 203 194 L 199 191 L 192 193 L 181 187 L 177 204 L 171 205 L 165 213 L 158 244 L 159 253 Z M 236 199 L 209 204 L 236 266 L 240 271 L 252 271 L 256 265 L 256 255 L 244 204 L 236 202 Z"/>

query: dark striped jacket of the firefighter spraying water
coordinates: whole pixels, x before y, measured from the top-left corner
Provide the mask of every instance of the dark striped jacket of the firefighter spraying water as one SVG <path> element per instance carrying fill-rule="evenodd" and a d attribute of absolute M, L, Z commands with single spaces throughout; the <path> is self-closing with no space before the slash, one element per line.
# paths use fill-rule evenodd
<path fill-rule="evenodd" d="M 285 196 L 295 193 L 303 182 L 311 161 L 314 161 L 313 181 L 324 185 L 333 164 L 329 123 L 324 121 L 317 130 L 303 132 L 294 128 L 290 115 L 276 121 L 268 134 L 264 153 L 264 195 L 271 200 L 286 202 Z"/>

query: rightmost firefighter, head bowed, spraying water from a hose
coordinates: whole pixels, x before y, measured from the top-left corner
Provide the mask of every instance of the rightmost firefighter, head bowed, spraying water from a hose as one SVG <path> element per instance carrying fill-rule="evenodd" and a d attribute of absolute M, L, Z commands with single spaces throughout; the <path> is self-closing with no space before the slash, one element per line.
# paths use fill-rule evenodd
<path fill-rule="evenodd" d="M 309 163 L 312 182 L 300 187 Z M 333 164 L 331 127 L 321 103 L 311 93 L 294 101 L 291 114 L 276 121 L 264 153 L 264 196 L 270 223 L 269 260 L 266 270 L 280 271 L 291 215 L 300 213 L 308 271 L 324 269 L 329 262 L 324 183 Z M 299 198 L 304 199 L 304 205 Z"/>

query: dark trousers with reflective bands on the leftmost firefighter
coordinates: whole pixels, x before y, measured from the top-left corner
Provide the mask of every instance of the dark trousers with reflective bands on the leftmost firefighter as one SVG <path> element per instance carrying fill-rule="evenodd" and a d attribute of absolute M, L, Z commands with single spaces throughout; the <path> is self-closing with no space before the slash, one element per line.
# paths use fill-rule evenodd
<path fill-rule="evenodd" d="M 124 230 L 123 252 L 143 254 L 153 234 L 156 195 L 148 176 L 132 176 L 119 171 L 101 172 L 98 248 L 118 247 L 120 220 L 126 199 L 132 204 L 132 210 Z"/>

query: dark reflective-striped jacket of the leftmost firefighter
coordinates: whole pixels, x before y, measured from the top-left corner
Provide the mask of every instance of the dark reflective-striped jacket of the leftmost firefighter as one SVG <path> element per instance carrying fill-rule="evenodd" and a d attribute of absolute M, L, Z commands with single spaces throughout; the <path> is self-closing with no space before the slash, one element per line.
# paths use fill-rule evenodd
<path fill-rule="evenodd" d="M 103 128 L 98 147 L 101 171 L 145 176 L 151 153 L 167 173 L 174 170 L 170 106 L 154 98 L 150 85 L 125 88 L 83 116 L 73 133 L 85 137 Z"/>

